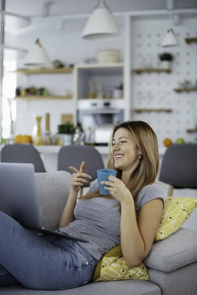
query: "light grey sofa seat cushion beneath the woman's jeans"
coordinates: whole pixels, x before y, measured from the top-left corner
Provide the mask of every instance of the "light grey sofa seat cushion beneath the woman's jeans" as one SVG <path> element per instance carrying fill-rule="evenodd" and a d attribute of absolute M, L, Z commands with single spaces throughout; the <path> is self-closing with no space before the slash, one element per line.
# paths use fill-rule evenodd
<path fill-rule="evenodd" d="M 161 295 L 160 288 L 147 281 L 116 281 L 98 282 L 63 290 L 63 291 L 36 291 L 23 287 L 13 286 L 0 288 L 0 295 Z"/>

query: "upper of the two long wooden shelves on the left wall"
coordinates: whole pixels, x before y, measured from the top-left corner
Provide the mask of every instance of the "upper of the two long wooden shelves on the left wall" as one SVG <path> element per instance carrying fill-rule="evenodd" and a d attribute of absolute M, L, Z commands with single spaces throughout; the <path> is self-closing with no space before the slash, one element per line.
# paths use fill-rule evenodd
<path fill-rule="evenodd" d="M 40 69 L 18 69 L 16 73 L 22 73 L 25 75 L 41 75 L 41 74 L 65 74 L 72 73 L 73 68 L 40 68 Z"/>

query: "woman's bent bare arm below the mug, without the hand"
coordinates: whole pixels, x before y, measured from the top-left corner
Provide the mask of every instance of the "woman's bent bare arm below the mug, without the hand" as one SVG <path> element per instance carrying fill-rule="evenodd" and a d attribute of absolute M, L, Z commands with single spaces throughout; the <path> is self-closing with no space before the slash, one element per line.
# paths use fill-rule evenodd
<path fill-rule="evenodd" d="M 162 199 L 140 208 L 136 220 L 134 202 L 121 204 L 121 248 L 129 267 L 138 266 L 149 254 L 163 213 Z"/>

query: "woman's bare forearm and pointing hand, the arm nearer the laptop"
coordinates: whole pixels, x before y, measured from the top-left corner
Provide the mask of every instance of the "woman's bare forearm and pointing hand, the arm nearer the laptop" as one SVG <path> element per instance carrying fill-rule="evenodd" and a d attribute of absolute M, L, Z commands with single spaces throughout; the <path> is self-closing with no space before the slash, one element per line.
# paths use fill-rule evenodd
<path fill-rule="evenodd" d="M 69 223 L 75 220 L 74 208 L 76 206 L 78 192 L 83 186 L 83 183 L 89 183 L 89 181 L 84 179 L 84 177 L 92 178 L 90 175 L 84 173 L 85 162 L 81 163 L 80 171 L 72 166 L 70 166 L 69 169 L 73 171 L 71 178 L 71 189 L 66 202 L 66 207 L 64 208 L 64 211 L 60 218 L 59 228 L 66 227 Z"/>

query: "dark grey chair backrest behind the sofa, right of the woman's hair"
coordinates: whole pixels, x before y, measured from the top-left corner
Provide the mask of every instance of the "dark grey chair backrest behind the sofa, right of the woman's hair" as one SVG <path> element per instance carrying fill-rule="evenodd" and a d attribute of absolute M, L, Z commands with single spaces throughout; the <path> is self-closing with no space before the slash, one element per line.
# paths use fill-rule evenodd
<path fill-rule="evenodd" d="M 159 180 L 174 188 L 197 189 L 197 144 L 174 144 L 163 156 Z"/>

